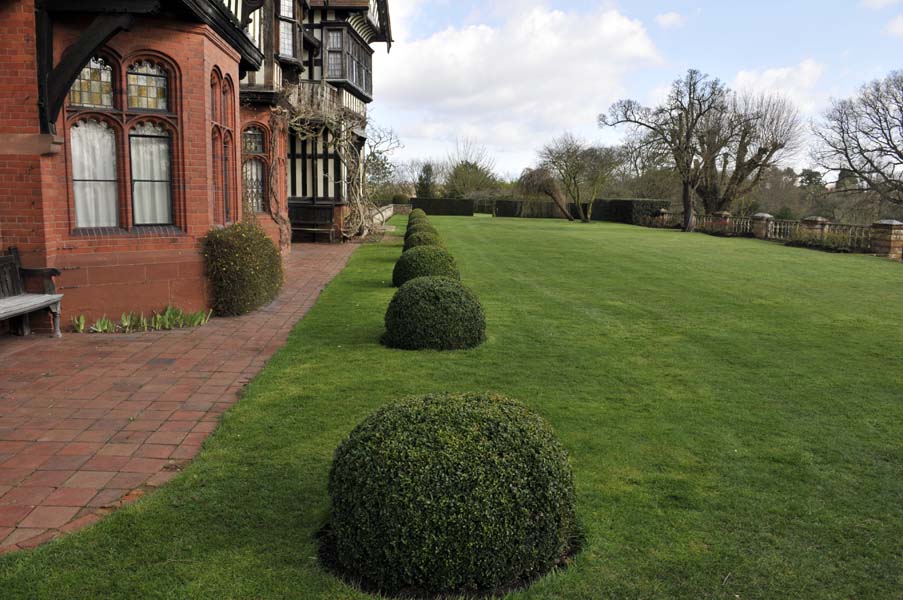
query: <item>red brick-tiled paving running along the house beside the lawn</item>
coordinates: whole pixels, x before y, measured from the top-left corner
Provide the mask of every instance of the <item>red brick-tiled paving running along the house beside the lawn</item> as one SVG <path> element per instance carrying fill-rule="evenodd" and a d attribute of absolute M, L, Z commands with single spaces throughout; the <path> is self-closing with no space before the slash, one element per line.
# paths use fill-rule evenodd
<path fill-rule="evenodd" d="M 273 304 L 198 329 L 0 336 L 0 553 L 90 525 L 175 476 L 355 247 L 295 246 Z"/>

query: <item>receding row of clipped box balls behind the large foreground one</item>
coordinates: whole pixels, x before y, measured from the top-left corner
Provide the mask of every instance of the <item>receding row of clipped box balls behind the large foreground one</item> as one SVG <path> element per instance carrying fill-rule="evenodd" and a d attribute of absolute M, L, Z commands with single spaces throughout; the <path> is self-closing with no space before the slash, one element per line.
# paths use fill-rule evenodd
<path fill-rule="evenodd" d="M 438 231 L 423 209 L 415 209 L 408 219 L 404 252 L 392 273 L 399 289 L 386 310 L 383 344 L 404 350 L 461 350 L 482 344 L 483 307 L 460 279 Z"/>

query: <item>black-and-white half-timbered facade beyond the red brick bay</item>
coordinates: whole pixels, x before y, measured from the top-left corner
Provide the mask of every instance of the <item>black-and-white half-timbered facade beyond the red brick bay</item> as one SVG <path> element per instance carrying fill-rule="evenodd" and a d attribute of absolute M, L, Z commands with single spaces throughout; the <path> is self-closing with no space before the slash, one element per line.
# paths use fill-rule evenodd
<path fill-rule="evenodd" d="M 242 80 L 243 117 L 248 127 L 281 140 L 273 140 L 272 156 L 246 163 L 245 195 L 251 199 L 261 193 L 258 165 L 271 165 L 266 193 L 275 206 L 286 203 L 296 233 L 329 211 L 340 228 L 348 171 L 332 134 L 328 128 L 316 137 L 301 134 L 273 118 L 272 109 L 280 103 L 297 108 L 276 111 L 288 114 L 288 120 L 346 111 L 357 115 L 362 150 L 367 105 L 373 100 L 372 45 L 391 44 L 388 0 L 263 0 L 249 33 L 266 59 Z"/>

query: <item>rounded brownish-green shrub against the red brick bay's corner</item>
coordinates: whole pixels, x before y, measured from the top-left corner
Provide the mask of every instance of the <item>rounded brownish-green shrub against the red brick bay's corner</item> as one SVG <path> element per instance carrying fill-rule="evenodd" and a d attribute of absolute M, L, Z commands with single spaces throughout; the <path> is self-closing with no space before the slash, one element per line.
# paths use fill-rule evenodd
<path fill-rule="evenodd" d="M 212 230 L 203 252 L 216 315 L 249 313 L 272 302 L 282 289 L 282 255 L 257 223 Z"/>

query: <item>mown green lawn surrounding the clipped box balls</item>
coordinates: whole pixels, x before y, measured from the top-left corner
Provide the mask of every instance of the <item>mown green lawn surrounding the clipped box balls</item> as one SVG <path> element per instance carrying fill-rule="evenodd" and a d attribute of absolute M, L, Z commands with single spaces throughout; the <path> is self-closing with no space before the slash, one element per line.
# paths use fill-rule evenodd
<path fill-rule="evenodd" d="M 899 600 L 903 265 L 432 221 L 484 302 L 484 346 L 381 347 L 400 238 L 360 248 L 180 477 L 0 557 L 0 597 L 368 598 L 317 563 L 334 448 L 393 398 L 493 390 L 553 424 L 587 530 L 571 568 L 511 598 Z"/>

